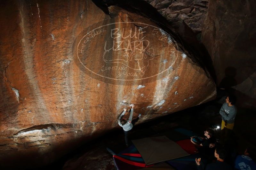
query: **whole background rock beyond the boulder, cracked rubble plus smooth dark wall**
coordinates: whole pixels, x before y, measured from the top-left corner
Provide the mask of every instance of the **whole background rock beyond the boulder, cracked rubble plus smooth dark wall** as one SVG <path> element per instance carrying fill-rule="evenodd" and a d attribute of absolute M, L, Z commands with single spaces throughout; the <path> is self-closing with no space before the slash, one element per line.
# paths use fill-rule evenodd
<path fill-rule="evenodd" d="M 163 15 L 194 49 L 212 58 L 216 83 L 236 93 L 238 103 L 256 102 L 255 0 L 145 0 Z M 198 47 L 198 42 L 203 45 Z M 196 44 L 196 45 L 195 45 Z M 215 77 L 215 76 L 214 76 Z M 255 108 L 255 107 L 254 107 Z"/>

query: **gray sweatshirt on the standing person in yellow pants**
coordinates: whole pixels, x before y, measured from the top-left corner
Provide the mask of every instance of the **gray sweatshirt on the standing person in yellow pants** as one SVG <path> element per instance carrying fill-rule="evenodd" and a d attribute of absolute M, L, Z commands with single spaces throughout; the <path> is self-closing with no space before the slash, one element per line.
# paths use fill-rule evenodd
<path fill-rule="evenodd" d="M 228 124 L 232 124 L 235 122 L 236 113 L 236 106 L 228 106 L 228 103 L 224 103 L 220 109 L 220 115 L 222 116 L 222 120 L 227 122 Z"/>

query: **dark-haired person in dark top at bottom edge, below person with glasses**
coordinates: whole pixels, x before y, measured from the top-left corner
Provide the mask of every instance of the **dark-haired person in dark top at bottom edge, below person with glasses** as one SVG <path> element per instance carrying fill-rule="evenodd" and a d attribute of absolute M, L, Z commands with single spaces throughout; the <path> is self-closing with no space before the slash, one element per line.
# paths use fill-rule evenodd
<path fill-rule="evenodd" d="M 219 146 L 216 147 L 214 152 L 214 157 L 217 158 L 216 162 L 212 162 L 210 164 L 204 165 L 203 162 L 201 163 L 201 159 L 196 158 L 196 165 L 198 170 L 231 170 L 233 169 L 230 165 L 224 162 L 226 158 L 227 151 Z"/>

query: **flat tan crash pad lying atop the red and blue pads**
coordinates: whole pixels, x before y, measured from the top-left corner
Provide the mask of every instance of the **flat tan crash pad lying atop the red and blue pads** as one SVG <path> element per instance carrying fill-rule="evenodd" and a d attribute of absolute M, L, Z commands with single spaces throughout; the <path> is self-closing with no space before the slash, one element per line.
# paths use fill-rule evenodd
<path fill-rule="evenodd" d="M 176 142 L 166 136 L 132 140 L 146 165 L 188 156 Z"/>

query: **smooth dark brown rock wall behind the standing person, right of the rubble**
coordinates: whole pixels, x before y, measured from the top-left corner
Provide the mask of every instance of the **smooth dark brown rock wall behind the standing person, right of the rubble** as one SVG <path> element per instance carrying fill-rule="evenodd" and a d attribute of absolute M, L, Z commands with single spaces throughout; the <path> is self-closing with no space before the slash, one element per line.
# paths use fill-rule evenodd
<path fill-rule="evenodd" d="M 210 53 L 217 85 L 234 92 L 238 104 L 256 102 L 256 6 L 254 0 L 210 1 L 202 42 Z"/>

